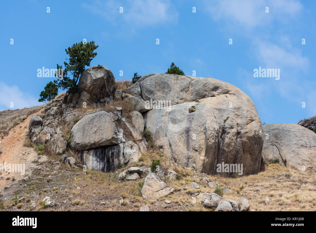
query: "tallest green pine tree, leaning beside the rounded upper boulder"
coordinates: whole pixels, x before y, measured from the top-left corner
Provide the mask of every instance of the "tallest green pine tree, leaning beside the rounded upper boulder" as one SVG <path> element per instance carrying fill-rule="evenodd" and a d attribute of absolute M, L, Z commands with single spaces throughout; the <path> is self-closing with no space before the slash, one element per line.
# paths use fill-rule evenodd
<path fill-rule="evenodd" d="M 69 55 L 69 59 L 64 61 L 64 75 L 63 78 L 59 78 L 54 82 L 58 84 L 58 87 L 62 88 L 63 90 L 69 89 L 71 93 L 78 92 L 77 82 L 80 78 L 80 75 L 85 70 L 86 66 L 90 66 L 90 62 L 92 59 L 97 55 L 94 52 L 99 45 L 95 45 L 94 41 L 88 43 L 76 43 L 73 44 L 68 49 L 65 49 L 66 54 Z M 62 69 L 62 66 L 57 64 L 57 69 Z M 72 75 L 72 77 L 68 77 L 68 73 Z M 55 74 L 55 77 L 57 75 Z"/>

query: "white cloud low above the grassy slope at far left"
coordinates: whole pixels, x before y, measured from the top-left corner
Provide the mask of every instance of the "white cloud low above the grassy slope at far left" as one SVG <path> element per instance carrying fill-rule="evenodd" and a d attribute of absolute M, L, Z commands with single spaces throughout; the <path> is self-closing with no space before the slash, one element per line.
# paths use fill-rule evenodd
<path fill-rule="evenodd" d="M 9 87 L 6 83 L 0 82 L 0 110 L 18 109 L 24 107 L 33 107 L 42 105 L 37 99 L 21 92 L 19 87 Z M 13 102 L 13 108 L 10 108 L 10 103 Z"/>

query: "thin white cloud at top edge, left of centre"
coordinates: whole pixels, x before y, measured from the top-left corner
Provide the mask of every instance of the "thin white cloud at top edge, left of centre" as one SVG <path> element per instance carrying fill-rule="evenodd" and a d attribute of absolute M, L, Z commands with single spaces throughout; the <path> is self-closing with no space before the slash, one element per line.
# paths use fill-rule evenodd
<path fill-rule="evenodd" d="M 94 1 L 92 4 L 82 3 L 82 7 L 113 22 L 122 18 L 131 27 L 177 23 L 179 16 L 169 0 Z M 123 7 L 123 13 L 119 13 L 120 7 Z"/>

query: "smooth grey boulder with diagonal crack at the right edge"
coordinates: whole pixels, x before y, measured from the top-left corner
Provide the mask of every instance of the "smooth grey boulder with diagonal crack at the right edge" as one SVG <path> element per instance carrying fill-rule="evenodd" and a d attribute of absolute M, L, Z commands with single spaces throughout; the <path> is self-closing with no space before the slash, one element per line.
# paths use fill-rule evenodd
<path fill-rule="evenodd" d="M 278 158 L 280 164 L 315 172 L 316 133 L 297 124 L 263 125 L 262 154 L 266 161 Z"/>

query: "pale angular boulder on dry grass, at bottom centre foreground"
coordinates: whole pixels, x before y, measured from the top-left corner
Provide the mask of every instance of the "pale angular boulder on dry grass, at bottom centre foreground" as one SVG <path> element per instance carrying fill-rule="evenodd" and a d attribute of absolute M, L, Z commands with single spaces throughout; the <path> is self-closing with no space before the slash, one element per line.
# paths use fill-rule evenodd
<path fill-rule="evenodd" d="M 157 174 L 149 173 L 146 176 L 141 194 L 145 199 L 156 199 L 172 194 L 173 188 L 167 187 L 167 184 L 160 181 Z"/>

